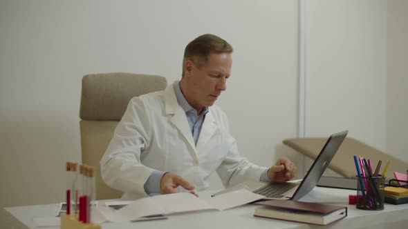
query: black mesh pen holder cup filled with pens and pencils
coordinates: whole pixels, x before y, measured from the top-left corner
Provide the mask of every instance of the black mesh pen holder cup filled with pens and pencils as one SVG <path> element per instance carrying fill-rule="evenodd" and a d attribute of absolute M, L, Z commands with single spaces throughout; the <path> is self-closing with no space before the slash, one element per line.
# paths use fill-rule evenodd
<path fill-rule="evenodd" d="M 362 177 L 357 179 L 357 206 L 362 210 L 384 209 L 385 177 Z"/>

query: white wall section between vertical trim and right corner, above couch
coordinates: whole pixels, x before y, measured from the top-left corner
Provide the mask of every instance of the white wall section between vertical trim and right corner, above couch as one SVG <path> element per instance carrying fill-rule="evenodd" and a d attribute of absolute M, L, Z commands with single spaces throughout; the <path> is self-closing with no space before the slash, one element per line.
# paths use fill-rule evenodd
<path fill-rule="evenodd" d="M 310 1 L 309 135 L 349 130 L 385 150 L 385 1 Z"/>

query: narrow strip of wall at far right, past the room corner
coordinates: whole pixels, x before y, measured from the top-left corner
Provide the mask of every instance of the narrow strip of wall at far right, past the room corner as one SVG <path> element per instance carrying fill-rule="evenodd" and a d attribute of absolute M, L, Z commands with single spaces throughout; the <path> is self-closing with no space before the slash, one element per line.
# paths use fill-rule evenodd
<path fill-rule="evenodd" d="M 387 152 L 408 162 L 408 1 L 387 1 Z M 408 168 L 407 168 L 408 169 Z M 404 171 L 400 171 L 404 172 Z"/>

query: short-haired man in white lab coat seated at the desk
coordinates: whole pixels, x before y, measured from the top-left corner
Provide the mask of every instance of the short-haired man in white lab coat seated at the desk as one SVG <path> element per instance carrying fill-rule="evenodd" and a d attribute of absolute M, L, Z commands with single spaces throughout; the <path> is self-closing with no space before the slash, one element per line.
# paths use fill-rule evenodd
<path fill-rule="evenodd" d="M 270 168 L 239 155 L 228 118 L 214 102 L 226 90 L 232 46 L 204 34 L 185 48 L 183 75 L 164 91 L 131 99 L 100 161 L 102 179 L 124 198 L 205 190 L 213 172 L 225 187 L 284 182 L 297 168 L 281 157 Z"/>

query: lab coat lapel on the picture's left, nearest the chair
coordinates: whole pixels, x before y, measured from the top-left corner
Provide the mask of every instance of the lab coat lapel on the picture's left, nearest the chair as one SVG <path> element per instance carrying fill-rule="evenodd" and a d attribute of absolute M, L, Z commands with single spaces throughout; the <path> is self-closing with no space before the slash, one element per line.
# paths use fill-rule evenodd
<path fill-rule="evenodd" d="M 196 154 L 196 146 L 194 144 L 193 135 L 189 128 L 185 111 L 178 104 L 176 94 L 174 93 L 173 84 L 169 85 L 165 90 L 165 106 L 167 115 L 173 115 L 170 118 L 171 123 L 176 126 L 185 140 L 189 143 L 189 146 L 191 146 L 192 150 L 190 150 L 190 154 L 192 155 L 195 164 L 197 164 L 198 157 Z"/>

